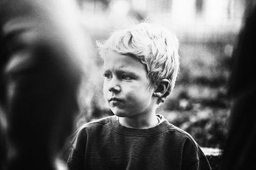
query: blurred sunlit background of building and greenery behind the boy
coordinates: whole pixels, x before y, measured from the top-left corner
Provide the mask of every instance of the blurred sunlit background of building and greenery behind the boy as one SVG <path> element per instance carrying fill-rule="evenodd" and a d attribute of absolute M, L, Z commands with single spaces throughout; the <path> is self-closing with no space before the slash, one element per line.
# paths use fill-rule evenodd
<path fill-rule="evenodd" d="M 179 78 L 157 113 L 189 132 L 200 146 L 211 148 L 223 148 L 227 137 L 231 55 L 247 4 L 244 0 L 79 0 L 94 45 L 112 31 L 143 20 L 176 34 Z M 95 63 L 90 107 L 79 115 L 77 126 L 112 115 L 102 92 L 102 60 L 96 54 Z"/>

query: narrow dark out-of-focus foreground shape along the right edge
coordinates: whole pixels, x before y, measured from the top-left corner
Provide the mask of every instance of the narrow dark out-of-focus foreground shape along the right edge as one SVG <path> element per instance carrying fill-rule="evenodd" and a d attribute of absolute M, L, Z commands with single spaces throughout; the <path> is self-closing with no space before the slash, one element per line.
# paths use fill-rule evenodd
<path fill-rule="evenodd" d="M 253 169 L 256 154 L 256 6 L 246 11 L 243 29 L 233 55 L 230 79 L 232 111 L 222 168 Z"/>

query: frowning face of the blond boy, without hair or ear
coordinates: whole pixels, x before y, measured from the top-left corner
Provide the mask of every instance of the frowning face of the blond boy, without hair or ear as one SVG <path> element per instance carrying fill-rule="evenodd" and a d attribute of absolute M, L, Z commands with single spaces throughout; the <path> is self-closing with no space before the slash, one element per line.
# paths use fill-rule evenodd
<path fill-rule="evenodd" d="M 118 117 L 155 111 L 154 88 L 143 64 L 128 55 L 108 50 L 104 57 L 104 97 Z"/>

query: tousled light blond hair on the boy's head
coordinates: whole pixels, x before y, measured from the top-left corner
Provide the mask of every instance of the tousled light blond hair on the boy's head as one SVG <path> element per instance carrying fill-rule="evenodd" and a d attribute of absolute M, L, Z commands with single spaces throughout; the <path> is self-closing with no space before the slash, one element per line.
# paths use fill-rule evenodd
<path fill-rule="evenodd" d="M 97 42 L 97 46 L 101 57 L 111 49 L 140 60 L 151 85 L 168 79 L 170 85 L 158 103 L 164 102 L 172 92 L 179 71 L 179 41 L 168 29 L 158 24 L 140 23 L 114 32 L 106 42 Z"/>

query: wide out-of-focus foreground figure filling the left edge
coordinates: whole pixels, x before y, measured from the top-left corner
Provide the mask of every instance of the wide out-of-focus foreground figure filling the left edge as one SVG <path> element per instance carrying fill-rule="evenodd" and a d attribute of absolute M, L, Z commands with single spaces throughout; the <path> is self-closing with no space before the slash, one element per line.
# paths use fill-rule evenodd
<path fill-rule="evenodd" d="M 79 113 L 83 68 L 90 70 L 85 39 L 73 1 L 0 0 L 3 168 L 65 169 L 58 153 Z"/>

